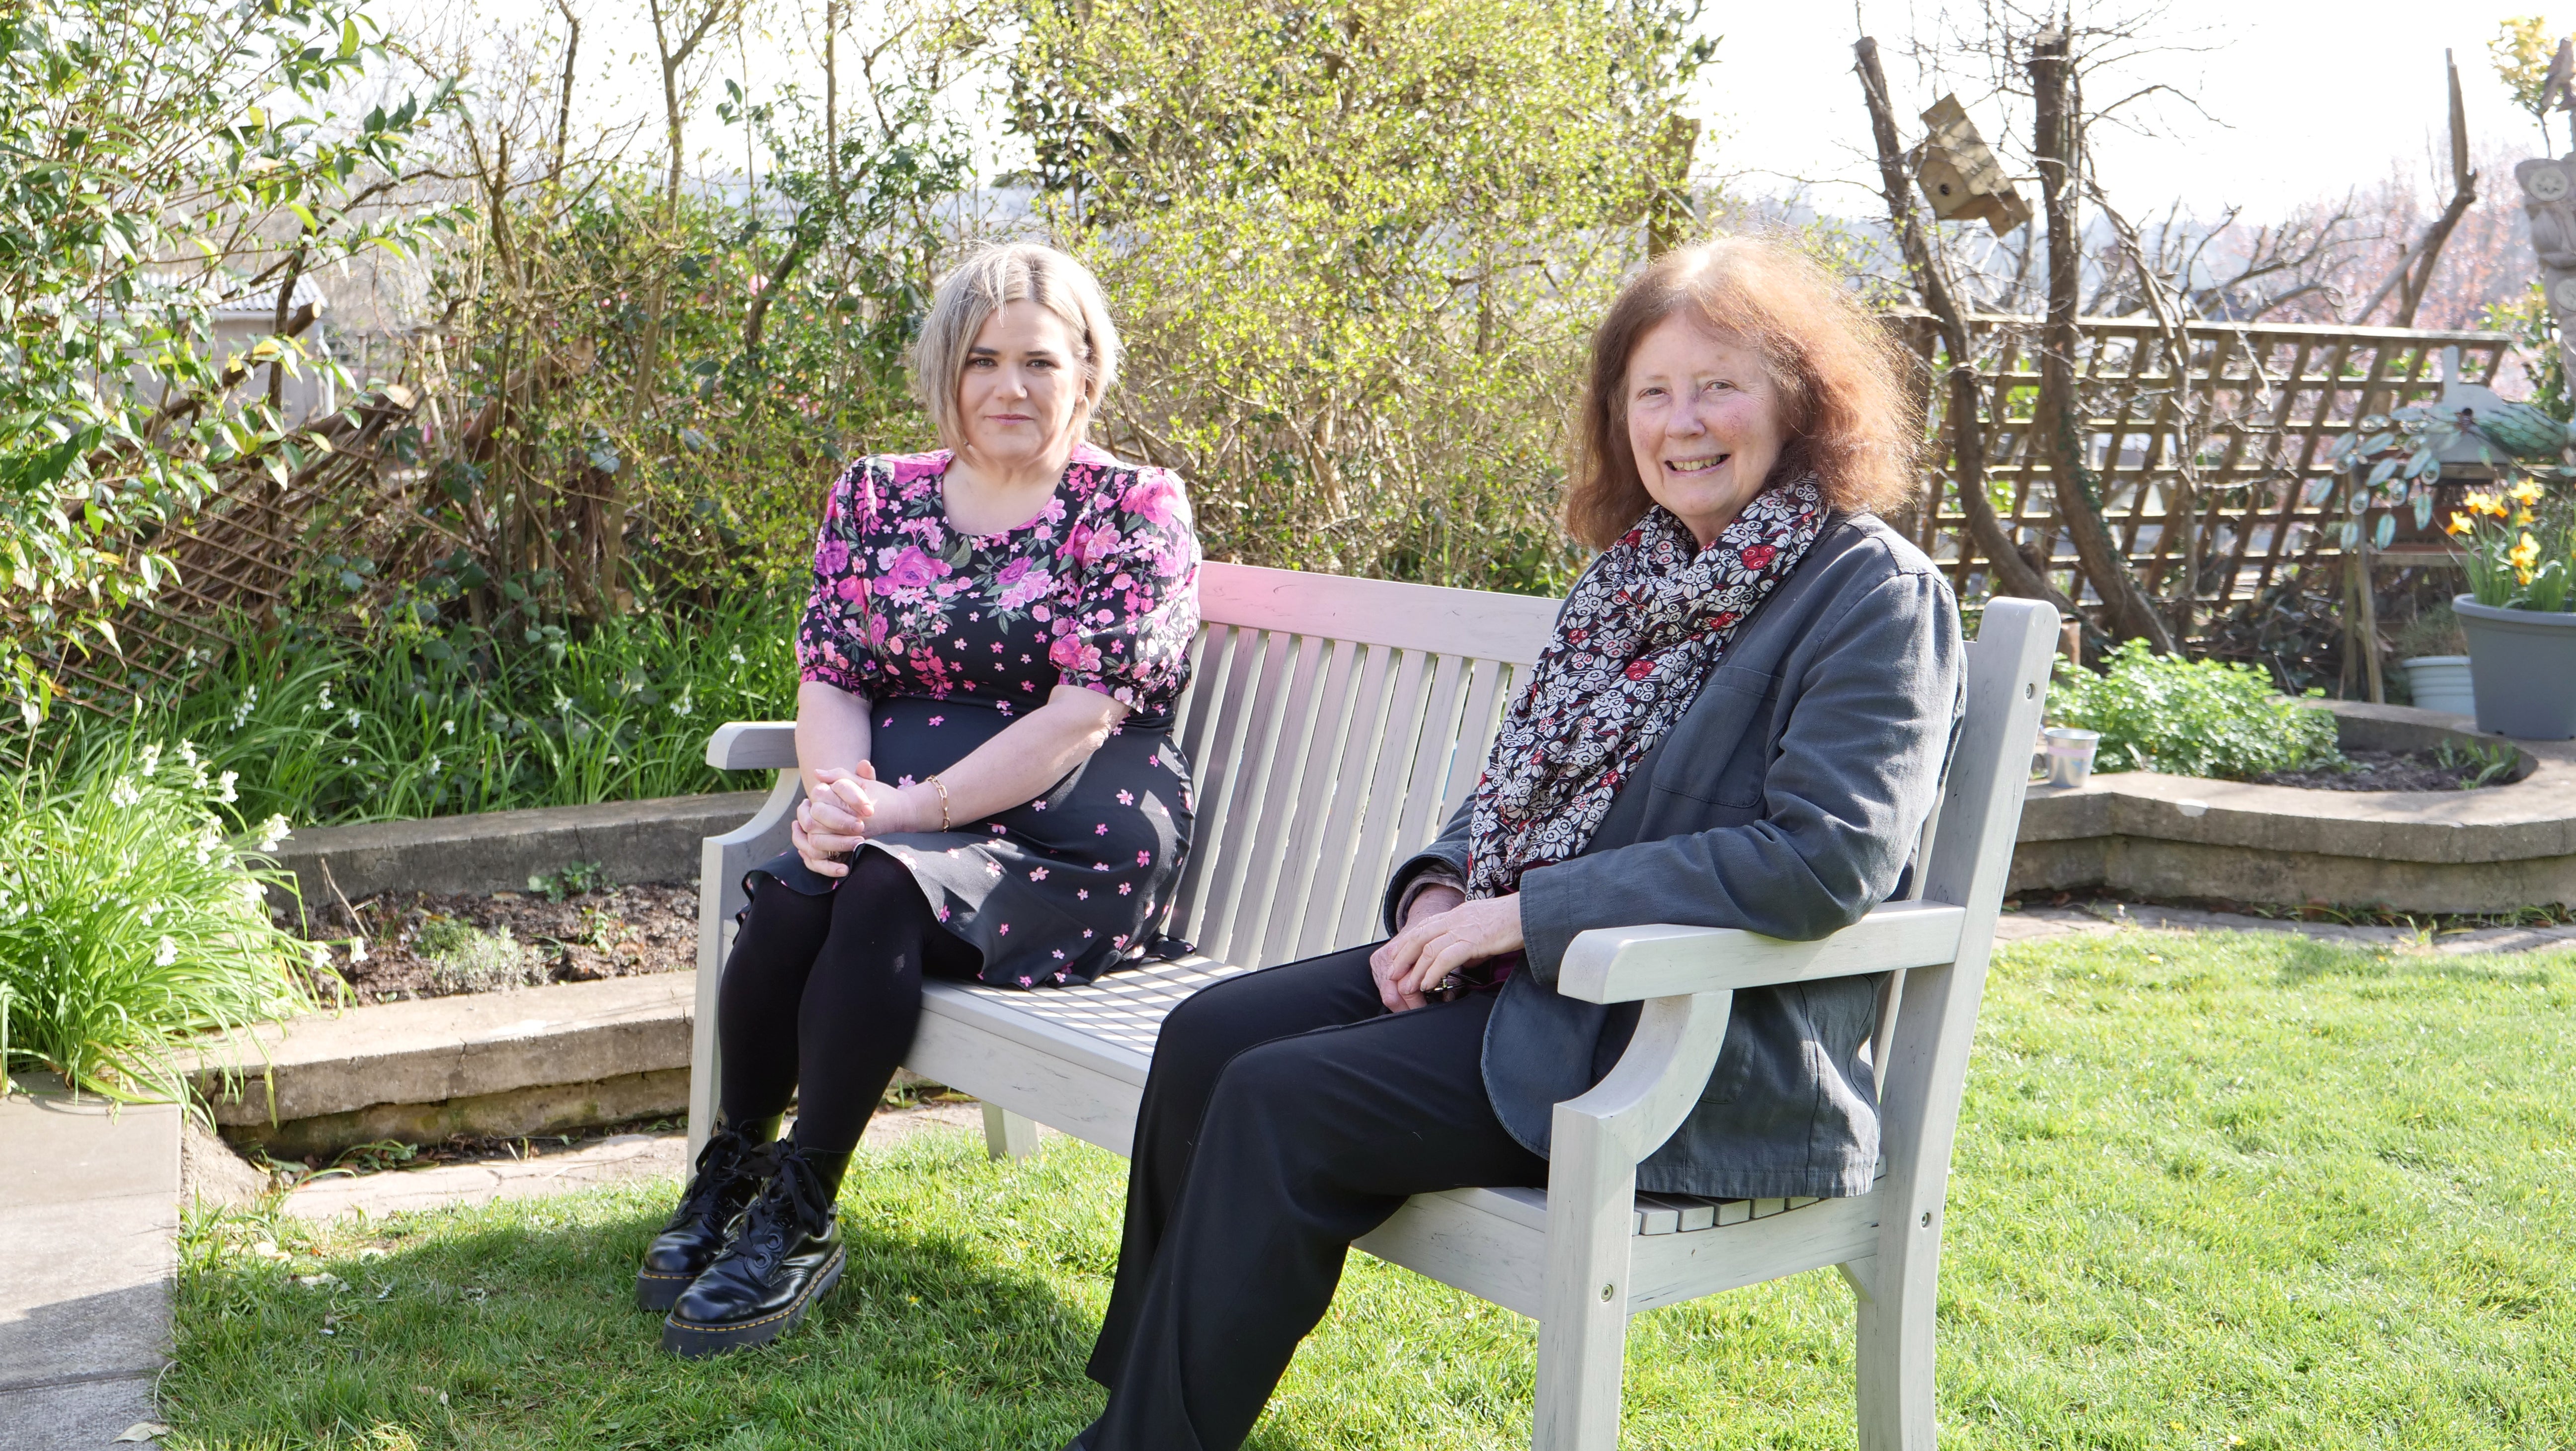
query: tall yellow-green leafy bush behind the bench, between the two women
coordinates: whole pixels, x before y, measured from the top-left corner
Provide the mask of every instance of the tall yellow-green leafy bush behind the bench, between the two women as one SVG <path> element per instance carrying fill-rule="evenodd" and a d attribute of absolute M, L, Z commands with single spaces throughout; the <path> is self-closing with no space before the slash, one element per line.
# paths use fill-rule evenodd
<path fill-rule="evenodd" d="M 1551 593 L 1584 343 L 1687 175 L 1664 0 L 1023 5 L 1012 126 L 1211 557 Z"/>

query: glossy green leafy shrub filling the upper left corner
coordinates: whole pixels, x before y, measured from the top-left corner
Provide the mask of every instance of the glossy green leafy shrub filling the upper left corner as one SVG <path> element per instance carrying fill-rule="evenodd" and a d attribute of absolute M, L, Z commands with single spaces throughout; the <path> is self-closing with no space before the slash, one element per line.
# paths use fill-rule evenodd
<path fill-rule="evenodd" d="M 227 363 L 209 307 L 451 219 L 355 209 L 448 106 L 335 111 L 381 59 L 371 28 L 348 0 L 0 8 L 0 693 L 28 722 L 41 660 L 113 647 L 108 616 L 167 582 L 157 526 L 309 459 L 273 379 L 330 363 L 294 325 Z"/>

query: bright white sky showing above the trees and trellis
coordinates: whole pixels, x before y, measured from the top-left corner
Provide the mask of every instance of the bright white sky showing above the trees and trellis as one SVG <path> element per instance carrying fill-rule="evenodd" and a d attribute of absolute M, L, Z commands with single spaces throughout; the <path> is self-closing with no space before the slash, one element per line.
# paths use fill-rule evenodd
<path fill-rule="evenodd" d="M 495 34 L 549 21 L 556 0 L 469 0 L 474 26 Z M 698 147 L 724 147 L 711 101 L 721 77 L 750 80 L 762 93 L 786 80 L 819 90 L 796 0 L 768 5 L 768 39 L 742 54 L 716 57 L 706 85 L 708 111 L 693 124 Z M 2025 0 L 2027 3 L 2027 0 Z M 2087 0 L 2094 13 L 2138 10 L 2154 0 Z M 572 0 L 585 15 L 580 113 L 592 121 L 657 116 L 649 31 L 641 0 Z M 1932 36 L 1945 0 L 1857 0 L 1857 23 L 1880 41 L 1888 82 L 1909 139 L 1914 116 L 1955 88 L 1981 131 L 1994 137 L 2002 106 L 1978 93 L 1976 77 L 1927 82 L 1904 54 L 1909 34 Z M 1947 0 L 1973 8 L 1976 0 Z M 819 10 L 819 3 L 811 5 Z M 866 8 L 866 0 L 860 0 Z M 2174 49 L 2130 67 L 2130 82 L 2164 82 L 2190 98 L 2141 113 L 2156 134 L 2105 126 L 2094 134 L 2097 178 L 2133 216 L 2184 201 L 2215 214 L 2244 206 L 2249 219 L 2277 216 L 2306 201 L 2367 188 L 2406 168 L 2421 193 L 2447 193 L 2434 178 L 2445 147 L 2442 49 L 2460 62 L 2473 152 L 2506 142 L 2535 155 L 2540 134 L 2517 111 L 2488 67 L 2486 44 L 2506 15 L 2545 13 L 2545 0 L 2166 0 L 2156 26 Z M 2576 0 L 2553 15 L 2576 28 Z M 1855 18 L 1842 3 L 1708 0 L 1703 34 L 1721 36 L 1718 64 L 1700 80 L 1690 111 L 1708 131 L 1705 173 L 1734 188 L 1783 196 L 1798 188 L 1819 211 L 1870 214 L 1875 162 L 1862 152 L 1868 119 L 1852 77 Z M 2102 98 L 2120 77 L 2097 80 Z M 2123 85 L 2125 90 L 2125 85 Z M 2197 106 L 2197 108 L 2195 108 Z M 2205 111 L 2208 116 L 2202 116 Z M 2568 144 L 2561 119 L 2561 149 Z M 647 131 L 639 147 L 657 144 Z M 721 155 L 739 155 L 739 131 Z M 708 157 L 714 162 L 716 157 Z M 2488 178 L 2488 196 L 2509 178 Z"/>

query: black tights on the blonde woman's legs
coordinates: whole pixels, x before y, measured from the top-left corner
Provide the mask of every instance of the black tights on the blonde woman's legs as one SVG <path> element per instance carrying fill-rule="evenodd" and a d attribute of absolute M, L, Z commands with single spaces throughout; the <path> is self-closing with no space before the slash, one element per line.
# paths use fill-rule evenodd
<path fill-rule="evenodd" d="M 855 1149 L 922 1021 L 922 974 L 976 966 L 881 850 L 853 856 L 827 897 L 760 881 L 716 992 L 724 1121 L 775 1119 L 793 1093 L 796 1147 Z"/>

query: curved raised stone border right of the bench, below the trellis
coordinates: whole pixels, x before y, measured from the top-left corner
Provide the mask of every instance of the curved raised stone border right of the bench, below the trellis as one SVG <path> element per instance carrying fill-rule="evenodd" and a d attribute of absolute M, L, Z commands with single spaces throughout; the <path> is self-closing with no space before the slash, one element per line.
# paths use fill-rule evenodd
<path fill-rule="evenodd" d="M 2468 716 L 2334 701 L 2344 745 L 2478 737 Z M 2483 791 L 2303 791 L 2123 771 L 2032 786 L 2012 892 L 2509 912 L 2576 902 L 2576 742 L 2509 742 L 2530 763 Z"/>

